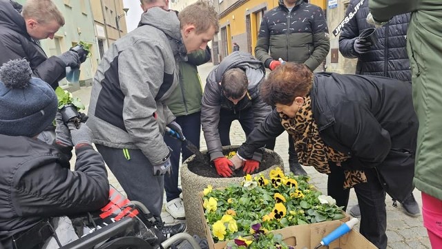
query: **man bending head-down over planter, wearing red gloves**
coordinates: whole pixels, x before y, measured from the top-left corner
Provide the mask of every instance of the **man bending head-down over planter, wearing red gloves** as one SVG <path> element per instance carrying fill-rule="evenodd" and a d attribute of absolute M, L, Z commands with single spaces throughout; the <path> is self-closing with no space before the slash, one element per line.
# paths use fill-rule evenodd
<path fill-rule="evenodd" d="M 264 64 L 251 54 L 240 51 L 225 57 L 207 77 L 201 124 L 207 150 L 220 176 L 232 176 L 233 163 L 222 154 L 222 146 L 230 145 L 229 131 L 233 120 L 240 122 L 247 136 L 271 112 L 271 107 L 259 96 L 264 78 Z M 268 149 L 274 146 L 275 140 L 266 143 Z M 254 169 L 244 167 L 244 172 L 249 174 Z"/>

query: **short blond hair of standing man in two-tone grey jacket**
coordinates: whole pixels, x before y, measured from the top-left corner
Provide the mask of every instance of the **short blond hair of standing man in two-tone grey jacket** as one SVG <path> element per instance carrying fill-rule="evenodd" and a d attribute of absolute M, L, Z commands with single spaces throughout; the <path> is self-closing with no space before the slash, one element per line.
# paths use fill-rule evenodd
<path fill-rule="evenodd" d="M 180 28 L 193 24 L 197 34 L 204 33 L 211 27 L 215 28 L 217 34 L 220 29 L 218 13 L 207 1 L 197 1 L 187 6 L 180 11 L 178 19 L 180 19 Z"/>

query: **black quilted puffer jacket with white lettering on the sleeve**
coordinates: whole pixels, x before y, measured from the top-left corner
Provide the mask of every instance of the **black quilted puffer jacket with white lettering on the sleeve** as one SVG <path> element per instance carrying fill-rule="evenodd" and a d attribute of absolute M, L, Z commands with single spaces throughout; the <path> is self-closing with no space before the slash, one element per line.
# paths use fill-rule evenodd
<path fill-rule="evenodd" d="M 352 0 L 347 8 L 354 11 L 354 6 L 360 0 Z M 356 12 L 356 17 L 351 19 L 340 31 L 339 50 L 347 58 L 358 58 L 356 74 L 377 75 L 391 77 L 411 83 L 410 60 L 407 55 L 407 28 L 410 21 L 410 13 L 398 15 L 376 29 L 376 45 L 368 53 L 358 54 L 353 45 L 356 38 L 363 30 L 374 28 L 365 20 L 369 13 L 368 1 L 365 0 L 361 9 Z"/>

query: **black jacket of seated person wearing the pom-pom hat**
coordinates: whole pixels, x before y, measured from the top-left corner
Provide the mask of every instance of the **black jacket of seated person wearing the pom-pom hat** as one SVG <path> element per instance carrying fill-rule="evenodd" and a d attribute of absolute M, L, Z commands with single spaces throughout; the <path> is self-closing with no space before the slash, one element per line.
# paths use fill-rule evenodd
<path fill-rule="evenodd" d="M 76 149 L 75 172 L 55 147 L 23 136 L 0 135 L 0 242 L 45 217 L 79 214 L 108 202 L 104 160 L 90 145 Z"/>

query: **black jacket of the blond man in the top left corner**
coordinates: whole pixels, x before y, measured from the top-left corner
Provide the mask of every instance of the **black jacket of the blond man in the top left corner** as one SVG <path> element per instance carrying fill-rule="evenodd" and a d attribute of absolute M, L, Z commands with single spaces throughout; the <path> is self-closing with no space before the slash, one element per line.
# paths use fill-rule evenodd
<path fill-rule="evenodd" d="M 11 59 L 26 58 L 34 77 L 39 77 L 55 89 L 59 80 L 66 77 L 64 62 L 56 56 L 46 56 L 39 42 L 26 32 L 25 20 L 20 12 L 18 3 L 0 0 L 0 66 Z"/>

